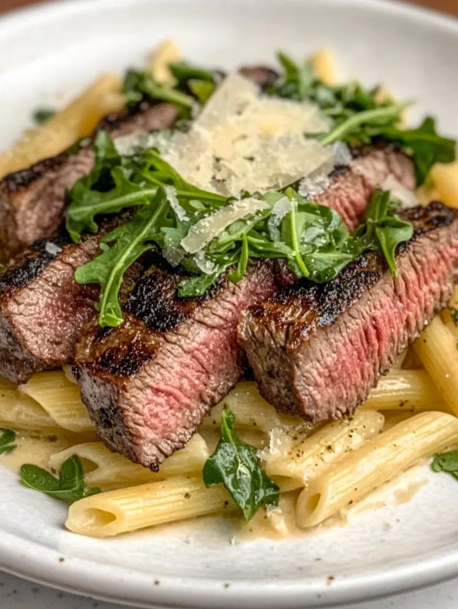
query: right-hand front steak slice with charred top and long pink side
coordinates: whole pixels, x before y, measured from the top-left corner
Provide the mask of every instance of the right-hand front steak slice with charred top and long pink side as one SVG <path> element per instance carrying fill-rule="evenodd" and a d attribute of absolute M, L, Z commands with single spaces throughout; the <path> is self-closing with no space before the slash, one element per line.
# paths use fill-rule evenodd
<path fill-rule="evenodd" d="M 279 410 L 311 421 L 351 414 L 445 308 L 458 281 L 458 211 L 435 202 L 401 216 L 414 236 L 397 249 L 397 279 L 367 253 L 329 283 L 303 280 L 243 314 L 240 345 Z"/>

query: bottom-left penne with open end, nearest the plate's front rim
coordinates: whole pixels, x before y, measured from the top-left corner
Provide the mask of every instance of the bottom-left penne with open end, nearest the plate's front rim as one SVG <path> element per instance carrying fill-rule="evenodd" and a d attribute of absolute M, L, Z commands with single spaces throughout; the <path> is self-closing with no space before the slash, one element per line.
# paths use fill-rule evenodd
<path fill-rule="evenodd" d="M 285 492 L 297 488 L 286 481 Z M 206 514 L 232 512 L 237 505 L 218 485 L 206 488 L 201 477 L 171 477 L 136 487 L 100 493 L 76 501 L 69 508 L 66 527 L 90 537 L 111 537 L 145 527 Z"/>

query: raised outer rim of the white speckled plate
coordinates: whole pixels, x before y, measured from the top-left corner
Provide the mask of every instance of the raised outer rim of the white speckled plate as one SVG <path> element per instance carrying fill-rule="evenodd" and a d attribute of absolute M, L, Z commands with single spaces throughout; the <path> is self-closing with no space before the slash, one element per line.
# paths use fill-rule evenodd
<path fill-rule="evenodd" d="M 56 18 L 69 18 L 75 13 L 92 10 L 110 10 L 135 4 L 147 4 L 156 0 L 66 0 L 64 4 L 48 0 L 43 4 L 16 9 L 0 17 L 0 37 L 15 36 L 30 24 Z M 163 0 L 173 2 L 174 0 Z M 187 0 L 194 2 L 195 0 Z M 207 0 L 211 1 L 211 0 Z M 225 0 L 213 0 L 223 4 Z M 230 1 L 230 0 L 228 0 Z M 232 0 L 231 4 L 305 4 L 308 0 Z M 440 29 L 456 33 L 458 19 L 437 10 L 397 0 L 321 0 L 322 4 L 354 5 L 367 11 L 384 11 L 392 15 L 408 16 Z M 102 8 L 101 8 L 102 7 Z M 336 607 L 342 603 L 372 600 L 387 595 L 425 588 L 444 582 L 458 574 L 458 546 L 439 557 L 415 561 L 401 568 L 375 569 L 368 574 L 336 577 L 330 584 L 325 577 L 311 579 L 235 580 L 154 576 L 116 565 L 100 565 L 95 560 L 72 557 L 35 541 L 27 541 L 13 533 L 1 530 L 0 569 L 15 576 L 32 580 L 70 593 L 90 595 L 96 599 L 117 604 L 134 604 L 136 607 L 254 607 L 262 602 L 264 609 L 280 607 Z M 64 558 L 64 560 L 61 560 Z M 97 569 L 91 568 L 96 565 Z M 105 571 L 105 573 L 101 573 Z M 159 585 L 154 582 L 160 581 Z M 83 583 L 84 582 L 84 583 Z M 190 600 L 191 599 L 191 600 Z"/>

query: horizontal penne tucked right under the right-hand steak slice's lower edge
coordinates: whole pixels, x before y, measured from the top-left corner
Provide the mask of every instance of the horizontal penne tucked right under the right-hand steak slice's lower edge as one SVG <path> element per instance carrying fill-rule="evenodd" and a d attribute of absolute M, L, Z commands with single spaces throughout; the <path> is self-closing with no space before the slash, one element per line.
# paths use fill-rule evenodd
<path fill-rule="evenodd" d="M 443 410 L 448 407 L 426 370 L 392 368 L 382 376 L 363 405 L 371 410 Z"/>

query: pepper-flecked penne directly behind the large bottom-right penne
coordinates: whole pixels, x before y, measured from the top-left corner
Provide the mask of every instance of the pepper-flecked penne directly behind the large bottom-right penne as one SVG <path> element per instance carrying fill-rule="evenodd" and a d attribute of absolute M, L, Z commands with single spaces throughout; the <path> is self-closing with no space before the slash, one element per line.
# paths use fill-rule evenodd
<path fill-rule="evenodd" d="M 380 412 L 358 409 L 353 417 L 330 423 L 313 435 L 283 434 L 274 438 L 269 452 L 262 452 L 265 470 L 306 482 L 321 476 L 336 459 L 379 434 L 383 424 Z"/>

